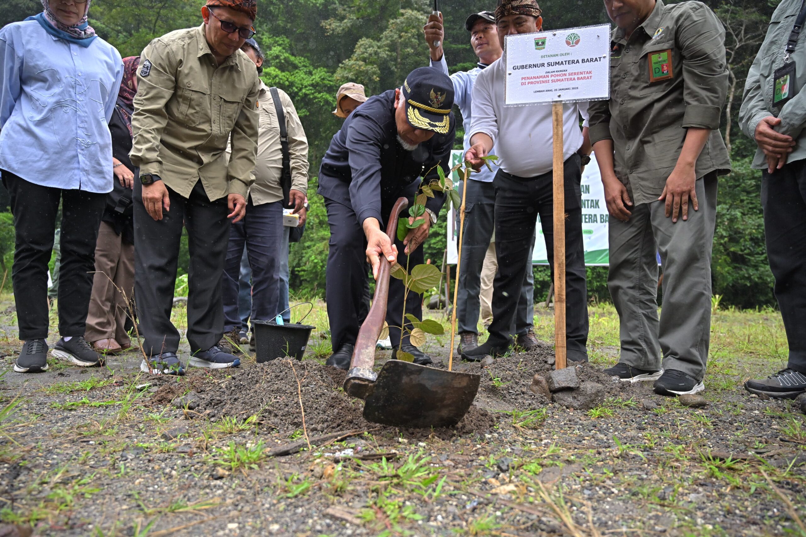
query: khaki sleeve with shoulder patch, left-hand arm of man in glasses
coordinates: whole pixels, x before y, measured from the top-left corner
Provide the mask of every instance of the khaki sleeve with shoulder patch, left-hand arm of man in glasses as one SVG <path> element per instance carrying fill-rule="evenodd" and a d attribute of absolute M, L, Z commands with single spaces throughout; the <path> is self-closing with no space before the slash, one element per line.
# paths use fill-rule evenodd
<path fill-rule="evenodd" d="M 152 41 L 143 50 L 140 60 L 135 113 L 131 116 L 133 139 L 129 156 L 131 163 L 140 168 L 141 174 L 161 176 L 160 139 L 168 124 L 165 105 L 173 97 L 177 84 L 177 60 L 160 39 Z M 146 61 L 151 64 L 151 69 L 147 76 L 142 76 L 142 66 Z"/>

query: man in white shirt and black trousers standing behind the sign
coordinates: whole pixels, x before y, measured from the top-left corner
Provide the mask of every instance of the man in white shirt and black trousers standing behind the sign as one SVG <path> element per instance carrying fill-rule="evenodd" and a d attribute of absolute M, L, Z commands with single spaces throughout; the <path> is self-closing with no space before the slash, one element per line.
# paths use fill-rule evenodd
<path fill-rule="evenodd" d="M 499 0 L 496 26 L 504 45 L 505 35 L 542 30 L 541 10 L 534 0 Z M 495 229 L 498 274 L 493 284 L 492 324 L 484 345 L 467 349 L 465 360 L 480 361 L 509 349 L 517 297 L 526 271 L 527 256 L 538 214 L 549 263 L 554 265 L 554 208 L 552 199 L 551 105 L 505 107 L 505 63 L 496 61 L 476 78 L 473 89 L 471 147 L 465 155 L 473 167 L 483 164 L 493 145 L 500 169 L 496 190 Z M 565 212 L 567 283 L 567 356 L 571 361 L 588 360 L 588 289 L 582 242 L 582 157 L 590 151 L 588 130 L 580 130 L 580 109 L 587 105 L 563 105 L 565 140 Z M 553 269 L 552 269 L 553 272 Z"/>

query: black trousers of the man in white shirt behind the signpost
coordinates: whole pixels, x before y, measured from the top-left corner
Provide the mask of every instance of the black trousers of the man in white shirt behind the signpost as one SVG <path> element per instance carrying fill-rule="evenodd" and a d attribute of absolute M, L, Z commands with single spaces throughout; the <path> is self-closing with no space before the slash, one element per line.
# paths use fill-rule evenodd
<path fill-rule="evenodd" d="M 566 345 L 572 360 L 588 357 L 588 286 L 582 242 L 582 171 L 579 155 L 565 161 Z M 496 256 L 498 273 L 492 284 L 492 324 L 488 341 L 512 343 L 517 301 L 521 295 L 530 242 L 538 214 L 554 277 L 554 202 L 552 172 L 516 177 L 499 170 L 496 188 Z"/>

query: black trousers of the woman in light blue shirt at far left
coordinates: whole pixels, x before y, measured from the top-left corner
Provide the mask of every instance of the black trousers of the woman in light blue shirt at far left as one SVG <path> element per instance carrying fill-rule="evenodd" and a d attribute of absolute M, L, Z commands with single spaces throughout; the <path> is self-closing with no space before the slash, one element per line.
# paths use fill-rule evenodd
<path fill-rule="evenodd" d="M 11 281 L 19 339 L 48 337 L 48 262 L 60 200 L 59 333 L 83 336 L 106 194 L 43 187 L 9 171 L 2 171 L 2 182 L 8 188 L 14 214 L 16 246 Z"/>

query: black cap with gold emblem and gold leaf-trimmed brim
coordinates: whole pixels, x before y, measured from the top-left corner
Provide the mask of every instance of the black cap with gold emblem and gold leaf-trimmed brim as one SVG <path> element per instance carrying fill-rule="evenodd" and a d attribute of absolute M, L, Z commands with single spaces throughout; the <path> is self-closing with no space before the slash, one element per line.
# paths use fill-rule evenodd
<path fill-rule="evenodd" d="M 453 82 L 433 67 L 414 69 L 403 83 L 406 119 L 415 129 L 447 134 L 451 130 Z"/>

